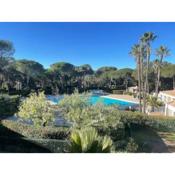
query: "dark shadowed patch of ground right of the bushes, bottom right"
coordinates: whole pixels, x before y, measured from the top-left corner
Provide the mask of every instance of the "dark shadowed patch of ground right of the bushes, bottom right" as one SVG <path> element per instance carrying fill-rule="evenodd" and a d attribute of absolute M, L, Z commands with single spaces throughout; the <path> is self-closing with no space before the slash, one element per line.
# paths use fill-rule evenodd
<path fill-rule="evenodd" d="M 132 126 L 132 137 L 139 144 L 139 152 L 145 153 L 169 153 L 164 140 L 156 131 L 146 126 Z"/>

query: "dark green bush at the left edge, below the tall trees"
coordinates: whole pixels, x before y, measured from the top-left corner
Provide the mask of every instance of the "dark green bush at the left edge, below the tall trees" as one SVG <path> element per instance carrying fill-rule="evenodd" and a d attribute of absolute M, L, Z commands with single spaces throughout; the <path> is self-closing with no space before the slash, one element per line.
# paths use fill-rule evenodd
<path fill-rule="evenodd" d="M 19 96 L 0 95 L 0 116 L 12 116 L 18 111 Z"/>

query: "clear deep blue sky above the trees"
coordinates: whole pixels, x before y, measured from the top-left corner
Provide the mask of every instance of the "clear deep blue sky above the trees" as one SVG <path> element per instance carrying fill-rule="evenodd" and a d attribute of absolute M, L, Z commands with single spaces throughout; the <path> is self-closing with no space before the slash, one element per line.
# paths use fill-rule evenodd
<path fill-rule="evenodd" d="M 153 49 L 167 46 L 171 56 L 166 61 L 175 63 L 175 23 L 0 23 L 0 39 L 14 43 L 16 59 L 32 59 L 46 68 L 60 61 L 94 69 L 134 68 L 130 48 L 148 31 L 158 35 Z"/>

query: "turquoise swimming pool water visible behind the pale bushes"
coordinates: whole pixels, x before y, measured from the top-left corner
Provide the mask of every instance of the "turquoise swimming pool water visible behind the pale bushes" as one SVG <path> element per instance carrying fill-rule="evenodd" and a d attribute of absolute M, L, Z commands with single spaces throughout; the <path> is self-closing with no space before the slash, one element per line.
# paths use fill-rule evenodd
<path fill-rule="evenodd" d="M 64 96 L 48 96 L 47 97 L 50 101 L 52 101 L 54 104 L 58 104 L 61 99 L 64 98 Z M 98 95 L 92 95 L 89 98 L 89 102 L 91 104 L 97 104 L 97 103 L 103 103 L 104 105 L 117 105 L 119 108 L 127 108 L 127 107 L 137 107 L 137 103 L 132 103 L 128 101 L 123 101 L 119 99 L 112 99 L 110 97 L 106 96 L 98 96 Z"/>

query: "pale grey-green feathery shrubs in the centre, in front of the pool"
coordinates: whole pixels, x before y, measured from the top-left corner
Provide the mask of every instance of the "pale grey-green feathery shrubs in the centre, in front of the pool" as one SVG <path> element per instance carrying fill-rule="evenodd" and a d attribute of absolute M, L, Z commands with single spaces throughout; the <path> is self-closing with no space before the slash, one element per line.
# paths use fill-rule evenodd
<path fill-rule="evenodd" d="M 62 115 L 73 123 L 73 127 L 93 126 L 108 134 L 112 129 L 123 129 L 116 106 L 105 106 L 100 102 L 91 105 L 88 98 L 87 94 L 75 92 L 58 104 Z"/>

